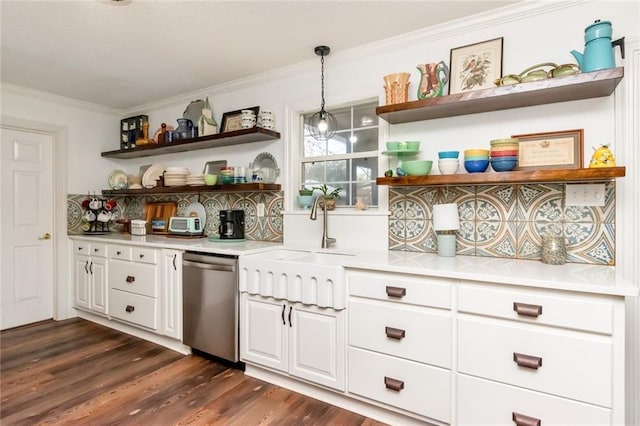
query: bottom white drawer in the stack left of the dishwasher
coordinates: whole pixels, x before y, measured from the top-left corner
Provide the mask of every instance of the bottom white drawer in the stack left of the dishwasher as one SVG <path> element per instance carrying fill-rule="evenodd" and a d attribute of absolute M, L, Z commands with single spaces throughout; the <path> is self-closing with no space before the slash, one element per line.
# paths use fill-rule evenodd
<path fill-rule="evenodd" d="M 158 328 L 156 299 L 120 290 L 109 290 L 109 313 L 133 324 Z"/>

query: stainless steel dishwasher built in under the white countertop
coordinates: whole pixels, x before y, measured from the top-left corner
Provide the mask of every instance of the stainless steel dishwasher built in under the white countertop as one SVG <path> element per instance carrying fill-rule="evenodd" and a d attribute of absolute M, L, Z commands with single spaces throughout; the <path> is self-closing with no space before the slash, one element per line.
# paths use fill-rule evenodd
<path fill-rule="evenodd" d="M 238 362 L 238 257 L 186 252 L 182 293 L 183 343 Z"/>

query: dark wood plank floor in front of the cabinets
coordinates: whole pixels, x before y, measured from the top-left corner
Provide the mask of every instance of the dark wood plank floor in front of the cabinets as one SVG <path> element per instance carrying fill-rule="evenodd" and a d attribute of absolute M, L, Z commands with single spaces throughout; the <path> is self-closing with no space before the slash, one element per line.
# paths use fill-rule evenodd
<path fill-rule="evenodd" d="M 379 425 L 82 319 L 0 333 L 0 424 Z"/>

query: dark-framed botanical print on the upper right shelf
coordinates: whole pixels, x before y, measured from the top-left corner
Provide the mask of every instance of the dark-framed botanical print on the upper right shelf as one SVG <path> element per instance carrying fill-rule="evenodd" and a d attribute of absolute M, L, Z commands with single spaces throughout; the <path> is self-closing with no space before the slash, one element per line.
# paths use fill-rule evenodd
<path fill-rule="evenodd" d="M 502 78 L 503 37 L 451 49 L 449 94 L 495 87 Z"/>

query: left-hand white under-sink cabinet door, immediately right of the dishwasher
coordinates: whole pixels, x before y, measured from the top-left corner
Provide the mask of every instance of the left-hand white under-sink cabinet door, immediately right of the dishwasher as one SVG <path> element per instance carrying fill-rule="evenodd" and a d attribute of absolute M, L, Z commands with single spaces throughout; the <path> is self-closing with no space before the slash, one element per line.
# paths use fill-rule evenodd
<path fill-rule="evenodd" d="M 287 371 L 288 322 L 285 301 L 249 296 L 240 298 L 240 358 Z"/>

